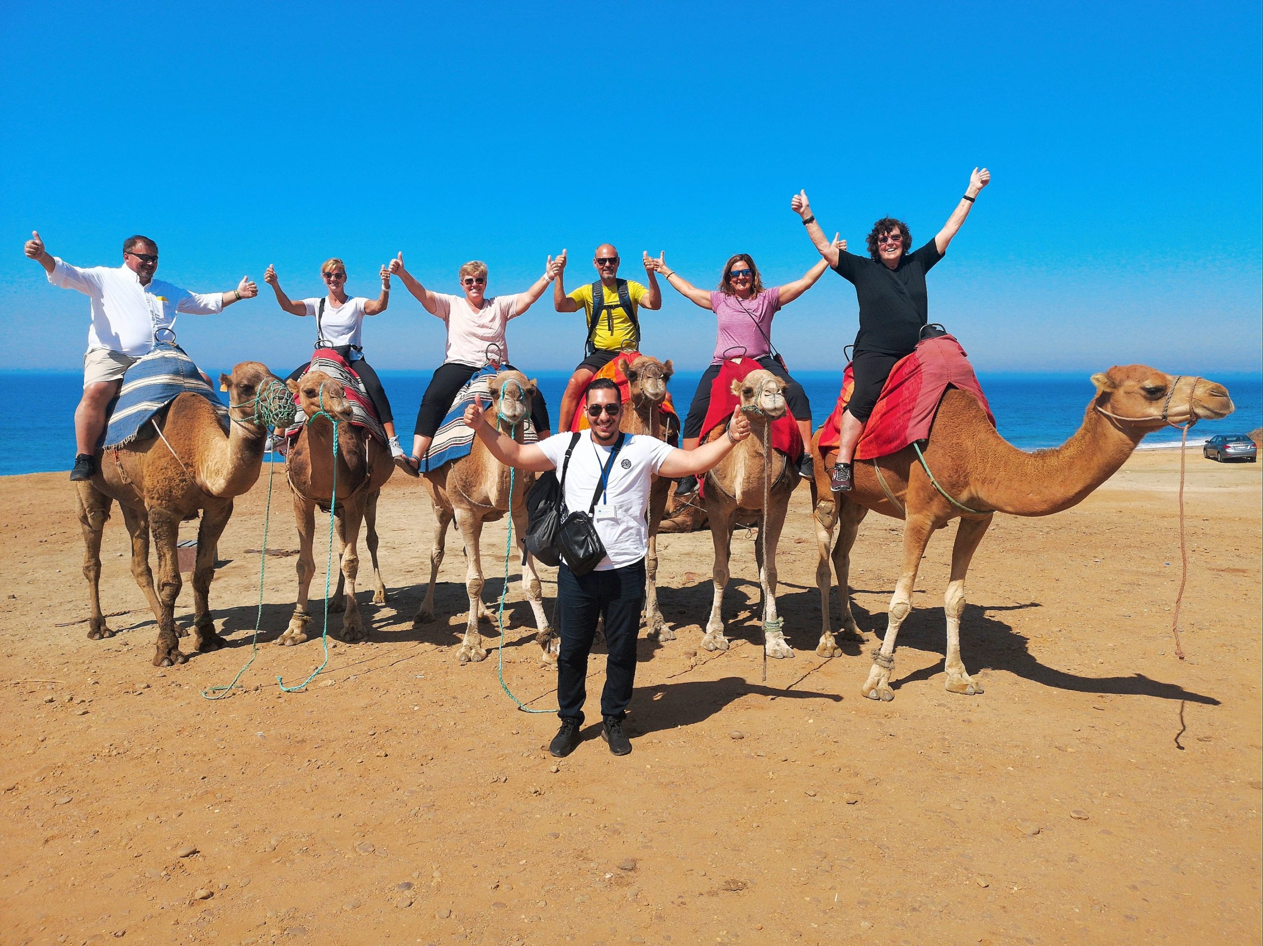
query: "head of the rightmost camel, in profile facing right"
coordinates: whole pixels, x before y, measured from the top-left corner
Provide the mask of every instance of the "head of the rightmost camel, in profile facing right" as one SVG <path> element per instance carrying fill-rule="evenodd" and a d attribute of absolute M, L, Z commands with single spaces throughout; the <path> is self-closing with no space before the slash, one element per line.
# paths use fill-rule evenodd
<path fill-rule="evenodd" d="M 1092 405 L 1116 421 L 1135 422 L 1140 431 L 1156 431 L 1167 422 L 1218 421 L 1236 408 L 1228 389 L 1194 375 L 1168 375 L 1146 365 L 1115 365 L 1092 375 Z"/>

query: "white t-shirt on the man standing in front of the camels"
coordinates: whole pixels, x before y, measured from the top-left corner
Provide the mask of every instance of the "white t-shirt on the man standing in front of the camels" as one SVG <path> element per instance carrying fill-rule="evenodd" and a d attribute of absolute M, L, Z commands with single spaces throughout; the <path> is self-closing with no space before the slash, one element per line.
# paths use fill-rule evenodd
<path fill-rule="evenodd" d="M 538 445 L 557 467 L 558 479 L 570 441 L 571 436 L 560 433 Z M 601 476 L 601 466 L 609 460 L 613 448 L 613 446 L 597 446 L 586 431 L 580 433 L 566 471 L 563 496 L 566 509 L 587 512 L 587 506 L 592 503 L 592 491 Z M 597 571 L 635 565 L 649 551 L 649 523 L 645 520 L 645 512 L 649 508 L 650 476 L 658 472 L 662 461 L 672 450 L 674 447 L 669 443 L 645 434 L 629 433 L 623 441 L 623 450 L 610 467 L 606 488 L 592 512 L 596 534 L 605 544 L 605 558 L 596 566 Z"/>

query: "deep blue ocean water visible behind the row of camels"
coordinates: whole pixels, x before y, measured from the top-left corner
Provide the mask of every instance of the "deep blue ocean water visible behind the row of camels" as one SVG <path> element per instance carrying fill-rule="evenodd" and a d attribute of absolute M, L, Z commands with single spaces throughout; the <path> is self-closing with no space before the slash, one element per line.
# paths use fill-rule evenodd
<path fill-rule="evenodd" d="M 217 378 L 221 370 L 227 369 L 216 366 L 205 370 Z M 1225 421 L 1197 424 L 1190 434 L 1191 443 L 1201 443 L 1216 433 L 1245 433 L 1263 426 L 1263 376 L 1209 374 L 1228 386 L 1236 413 Z M 407 446 L 431 373 L 381 371 L 380 375 Z M 556 423 L 570 373 L 542 371 L 530 376 L 538 379 Z M 794 376 L 811 399 L 812 423 L 818 426 L 837 402 L 841 373 L 802 371 Z M 669 389 L 681 414 L 687 413 L 700 378 L 700 371 L 681 371 L 671 379 Z M 1022 450 L 1055 447 L 1070 437 L 1082 423 L 1084 408 L 1092 393 L 1086 375 L 1080 374 L 981 374 L 979 380 L 1000 433 Z M 0 443 L 4 445 L 0 450 L 0 475 L 69 469 L 75 460 L 75 405 L 82 384 L 83 375 L 78 371 L 0 371 L 0 394 L 11 407 L 19 405 L 19 409 L 0 416 Z M 1142 446 L 1178 442 L 1180 432 L 1166 429 L 1151 433 Z"/>

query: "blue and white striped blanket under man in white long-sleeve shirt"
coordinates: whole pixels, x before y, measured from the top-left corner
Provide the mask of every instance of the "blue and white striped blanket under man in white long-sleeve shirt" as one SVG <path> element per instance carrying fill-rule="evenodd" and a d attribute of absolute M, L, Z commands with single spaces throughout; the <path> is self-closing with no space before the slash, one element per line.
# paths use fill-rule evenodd
<path fill-rule="evenodd" d="M 225 433 L 229 410 L 215 389 L 206 383 L 193 359 L 174 342 L 158 342 L 123 376 L 123 389 L 110 404 L 110 426 L 105 431 L 106 447 L 125 447 L 133 441 L 157 436 L 150 423 L 184 392 L 206 398 L 218 414 Z"/>

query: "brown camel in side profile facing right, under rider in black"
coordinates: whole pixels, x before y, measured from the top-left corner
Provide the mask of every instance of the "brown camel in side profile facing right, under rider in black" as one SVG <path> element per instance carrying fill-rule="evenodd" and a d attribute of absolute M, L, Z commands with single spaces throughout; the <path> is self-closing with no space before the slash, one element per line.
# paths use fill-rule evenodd
<path fill-rule="evenodd" d="M 903 566 L 890 599 L 885 638 L 873 650 L 873 667 L 861 688 L 873 700 L 893 700 L 890 671 L 899 625 L 912 611 L 917 567 L 935 529 L 959 518 L 952 546 L 951 576 L 943 599 L 947 616 L 946 688 L 973 696 L 983 687 L 965 672 L 960 658 L 960 616 L 965 610 L 965 573 L 994 513 L 1050 515 L 1082 501 L 1132 455 L 1144 434 L 1167 423 L 1183 424 L 1218 419 L 1233 412 L 1228 390 L 1201 378 L 1172 376 L 1144 365 L 1111 368 L 1092 375 L 1096 394 L 1084 414 L 1082 427 L 1056 450 L 1026 453 L 1007 443 L 986 418 L 974 395 L 950 388 L 938 405 L 928 445 L 922 451 L 935 480 L 951 500 L 940 494 L 917 460 L 913 448 L 878 460 L 856 461 L 855 489 L 829 491 L 826 462 L 817 458 L 812 500 L 823 630 L 817 653 L 837 656 L 829 625 L 830 542 L 842 606 L 844 632 L 856 633 L 847 590 L 850 549 L 860 520 L 869 509 L 904 520 Z M 820 433 L 816 433 L 818 452 Z M 967 506 L 965 512 L 954 504 Z"/>

